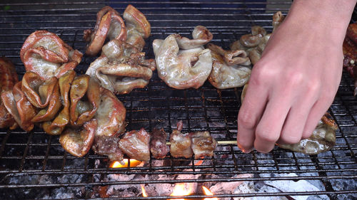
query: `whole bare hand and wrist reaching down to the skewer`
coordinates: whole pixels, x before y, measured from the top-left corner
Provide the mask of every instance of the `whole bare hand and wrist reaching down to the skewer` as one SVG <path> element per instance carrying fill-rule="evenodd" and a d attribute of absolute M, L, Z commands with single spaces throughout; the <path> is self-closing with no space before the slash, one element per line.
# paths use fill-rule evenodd
<path fill-rule="evenodd" d="M 356 0 L 296 0 L 254 65 L 238 113 L 238 147 L 270 152 L 311 136 L 341 81 Z"/>

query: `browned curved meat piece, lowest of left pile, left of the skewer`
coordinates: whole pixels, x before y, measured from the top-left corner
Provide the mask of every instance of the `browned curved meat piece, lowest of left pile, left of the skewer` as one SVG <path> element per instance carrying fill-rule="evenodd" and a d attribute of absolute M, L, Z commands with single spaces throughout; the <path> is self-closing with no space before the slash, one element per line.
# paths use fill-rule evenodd
<path fill-rule="evenodd" d="M 59 137 L 62 147 L 75 157 L 83 157 L 89 152 L 96 132 L 96 120 L 86 122 L 82 127 L 67 127 Z"/>

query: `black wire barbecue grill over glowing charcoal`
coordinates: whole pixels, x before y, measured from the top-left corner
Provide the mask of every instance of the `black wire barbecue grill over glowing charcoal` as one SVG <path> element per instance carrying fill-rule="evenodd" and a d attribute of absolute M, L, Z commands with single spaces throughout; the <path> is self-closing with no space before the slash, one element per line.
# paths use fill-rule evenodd
<path fill-rule="evenodd" d="M 190 37 L 194 26 L 206 26 L 213 33 L 213 43 L 228 48 L 253 25 L 272 31 L 275 11 L 286 14 L 288 1 L 9 1 L 0 4 L 0 54 L 16 65 L 19 78 L 24 65 L 20 48 L 30 33 L 46 29 L 66 43 L 84 52 L 83 31 L 94 28 L 96 12 L 112 6 L 123 13 L 133 4 L 151 23 L 151 36 L 144 52 L 154 58 L 151 43 L 172 33 Z M 355 10 L 356 14 L 356 10 Z M 354 16 L 353 16 L 354 18 Z M 84 56 L 76 68 L 85 73 L 94 58 Z M 318 155 L 305 155 L 275 147 L 268 154 L 243 154 L 234 144 L 219 145 L 214 157 L 199 160 L 152 158 L 137 167 L 111 168 L 106 157 L 89 152 L 77 158 L 64 151 L 59 138 L 36 128 L 0 130 L 0 199 L 177 199 L 159 195 L 160 185 L 193 183 L 198 185 L 185 199 L 204 199 L 199 186 L 216 183 L 278 184 L 308 181 L 318 190 L 293 188 L 275 191 L 216 193 L 219 199 L 268 196 L 315 196 L 313 199 L 357 198 L 357 99 L 353 97 L 353 79 L 343 73 L 340 88 L 329 111 L 336 120 L 336 146 Z M 154 73 L 149 85 L 128 95 L 118 95 L 127 110 L 126 130 L 150 131 L 164 128 L 172 132 L 183 120 L 183 132 L 208 130 L 216 140 L 236 140 L 237 113 L 241 88 L 217 90 L 206 82 L 201 88 L 175 90 Z M 235 176 L 248 174 L 247 176 Z M 124 179 L 125 177 L 125 179 Z M 129 179 L 128 177 L 136 177 Z M 139 177 L 139 178 L 138 178 Z M 178 179 L 178 177 L 180 177 Z M 140 186 L 153 188 L 143 197 Z M 124 188 L 127 188 L 124 193 Z M 111 189 L 111 193 L 109 190 Z M 129 191 L 130 192 L 129 192 Z M 183 198 L 183 197 L 181 197 Z M 290 197 L 288 197 L 290 198 Z"/>

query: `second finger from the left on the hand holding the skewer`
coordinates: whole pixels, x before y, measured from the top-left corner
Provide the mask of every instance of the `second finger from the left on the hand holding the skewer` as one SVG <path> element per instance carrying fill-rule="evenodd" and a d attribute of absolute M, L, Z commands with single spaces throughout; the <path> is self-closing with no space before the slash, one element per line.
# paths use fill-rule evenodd
<path fill-rule="evenodd" d="M 270 152 L 280 137 L 281 129 L 291 105 L 282 96 L 268 101 L 266 109 L 256 127 L 254 147 L 258 152 Z"/>

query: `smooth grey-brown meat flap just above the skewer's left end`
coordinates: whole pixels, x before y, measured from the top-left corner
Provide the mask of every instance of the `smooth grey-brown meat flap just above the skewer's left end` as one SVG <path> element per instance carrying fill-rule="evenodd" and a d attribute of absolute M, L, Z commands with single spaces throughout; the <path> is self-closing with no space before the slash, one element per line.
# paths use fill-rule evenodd
<path fill-rule="evenodd" d="M 120 135 L 125 131 L 126 109 L 111 91 L 101 88 L 101 99 L 96 118 L 98 127 L 96 137 Z"/>

